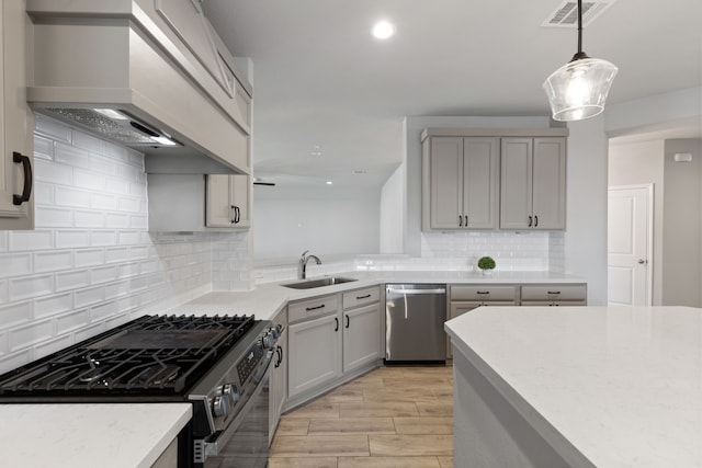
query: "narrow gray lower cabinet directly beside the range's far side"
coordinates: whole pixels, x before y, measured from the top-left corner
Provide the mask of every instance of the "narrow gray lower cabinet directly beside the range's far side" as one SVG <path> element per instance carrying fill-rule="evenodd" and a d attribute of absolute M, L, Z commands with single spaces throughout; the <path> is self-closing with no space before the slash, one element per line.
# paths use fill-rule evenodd
<path fill-rule="evenodd" d="M 269 393 L 269 445 L 275 435 L 275 429 L 283 412 L 283 406 L 287 398 L 287 310 L 283 309 L 274 319 L 273 326 L 281 330 L 281 335 L 275 343 L 273 362 L 271 363 L 271 380 Z"/>

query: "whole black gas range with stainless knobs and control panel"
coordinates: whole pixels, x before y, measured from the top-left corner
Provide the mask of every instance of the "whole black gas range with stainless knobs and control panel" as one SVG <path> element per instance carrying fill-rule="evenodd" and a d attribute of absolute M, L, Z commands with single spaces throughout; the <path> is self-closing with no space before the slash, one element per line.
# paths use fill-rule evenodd
<path fill-rule="evenodd" d="M 179 467 L 207 466 L 267 398 L 280 331 L 253 316 L 144 316 L 1 375 L 0 403 L 189 401 Z M 263 458 L 268 434 L 257 444 L 242 456 Z"/>

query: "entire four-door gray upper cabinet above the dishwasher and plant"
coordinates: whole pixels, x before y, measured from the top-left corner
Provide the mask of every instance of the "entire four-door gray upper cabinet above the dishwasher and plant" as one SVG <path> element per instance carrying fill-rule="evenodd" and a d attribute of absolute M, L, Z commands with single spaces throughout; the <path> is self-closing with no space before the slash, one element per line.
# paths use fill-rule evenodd
<path fill-rule="evenodd" d="M 567 128 L 427 128 L 422 229 L 565 228 Z"/>

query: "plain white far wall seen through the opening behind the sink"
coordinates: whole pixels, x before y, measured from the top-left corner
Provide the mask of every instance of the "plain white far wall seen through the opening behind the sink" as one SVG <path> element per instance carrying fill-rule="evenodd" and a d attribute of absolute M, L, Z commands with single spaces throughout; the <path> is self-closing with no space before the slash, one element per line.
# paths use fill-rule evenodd
<path fill-rule="evenodd" d="M 256 187 L 254 258 L 296 262 L 305 250 L 320 256 L 378 253 L 380 213 L 380 189 Z"/>

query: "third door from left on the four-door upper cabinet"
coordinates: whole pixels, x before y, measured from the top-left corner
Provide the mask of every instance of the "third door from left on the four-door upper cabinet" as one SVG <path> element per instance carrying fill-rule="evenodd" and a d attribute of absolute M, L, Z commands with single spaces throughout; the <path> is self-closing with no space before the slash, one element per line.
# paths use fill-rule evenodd
<path fill-rule="evenodd" d="M 532 216 L 532 138 L 502 138 L 500 228 L 529 229 Z M 533 220 L 532 220 L 533 224 Z"/>

